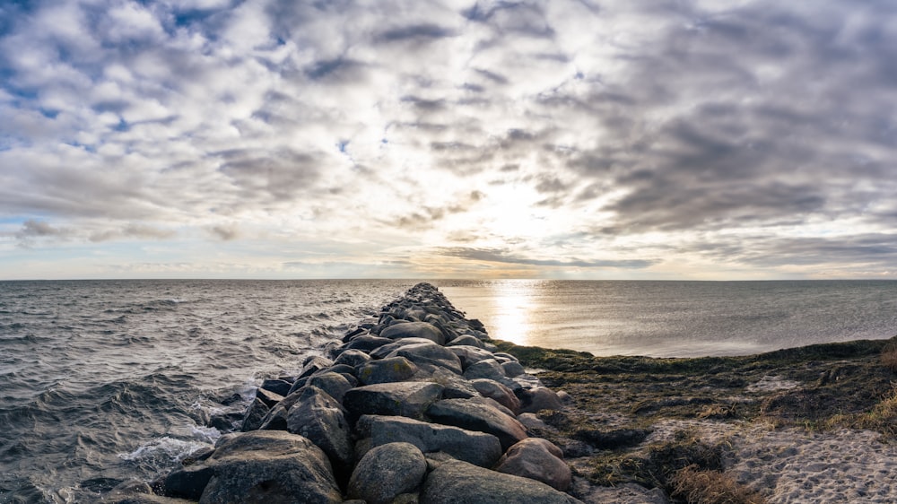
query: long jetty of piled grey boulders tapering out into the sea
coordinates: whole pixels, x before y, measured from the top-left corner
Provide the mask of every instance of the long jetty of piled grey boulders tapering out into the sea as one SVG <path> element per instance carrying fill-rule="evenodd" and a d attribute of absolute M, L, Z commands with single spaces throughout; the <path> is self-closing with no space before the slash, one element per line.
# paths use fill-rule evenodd
<path fill-rule="evenodd" d="M 106 501 L 579 502 L 565 493 L 562 451 L 524 423 L 561 405 L 479 321 L 419 283 L 298 376 L 266 380 L 240 432 Z"/>

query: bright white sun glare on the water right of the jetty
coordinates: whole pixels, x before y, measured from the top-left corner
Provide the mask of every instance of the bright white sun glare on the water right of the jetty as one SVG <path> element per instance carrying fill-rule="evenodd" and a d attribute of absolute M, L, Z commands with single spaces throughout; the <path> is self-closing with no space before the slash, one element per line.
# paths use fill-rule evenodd
<path fill-rule="evenodd" d="M 494 302 L 489 335 L 495 339 L 527 345 L 532 339 L 532 316 L 536 308 L 536 284 L 526 280 L 492 283 Z"/>

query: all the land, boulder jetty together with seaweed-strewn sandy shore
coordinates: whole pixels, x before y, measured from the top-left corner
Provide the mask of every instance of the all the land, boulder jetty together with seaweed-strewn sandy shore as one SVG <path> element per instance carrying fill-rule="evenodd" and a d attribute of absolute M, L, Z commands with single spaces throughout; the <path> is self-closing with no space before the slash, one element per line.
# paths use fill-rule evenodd
<path fill-rule="evenodd" d="M 405 334 L 412 326 L 422 332 Z M 418 284 L 324 356 L 309 356 L 300 376 L 266 380 L 243 433 L 222 436 L 152 486 L 124 483 L 103 500 L 249 501 L 249 492 L 261 501 L 287 489 L 307 493 L 308 482 L 276 475 L 283 466 L 272 473 L 267 464 L 283 463 L 272 450 L 292 454 L 290 471 L 298 464 L 320 476 L 313 484 L 319 499 L 285 500 L 296 502 L 435 504 L 482 499 L 483 492 L 503 495 L 496 502 L 897 500 L 889 483 L 897 452 L 881 442 L 895 434 L 897 365 L 883 356 L 897 339 L 656 359 L 521 347 L 485 331 L 438 289 Z M 373 379 L 371 366 L 397 374 Z M 449 428 L 464 440 L 430 445 L 409 434 L 445 437 Z M 388 438 L 379 436 L 386 431 Z M 298 447 L 297 438 L 309 446 Z M 483 448 L 493 443 L 501 447 Z M 832 447 L 844 446 L 853 459 L 821 465 L 839 454 Z M 494 455 L 470 458 L 472 448 Z M 526 452 L 522 462 L 508 464 L 519 452 Z M 385 458 L 370 462 L 374 453 Z M 397 475 L 382 465 L 411 459 L 416 476 L 383 493 L 382 482 Z M 864 460 L 872 459 L 875 477 L 863 477 Z M 264 464 L 250 470 L 250 460 Z M 771 460 L 782 463 L 778 477 L 767 471 Z M 540 468 L 536 473 L 556 470 L 549 478 L 521 468 L 527 465 Z M 716 500 L 707 500 L 709 488 Z"/>

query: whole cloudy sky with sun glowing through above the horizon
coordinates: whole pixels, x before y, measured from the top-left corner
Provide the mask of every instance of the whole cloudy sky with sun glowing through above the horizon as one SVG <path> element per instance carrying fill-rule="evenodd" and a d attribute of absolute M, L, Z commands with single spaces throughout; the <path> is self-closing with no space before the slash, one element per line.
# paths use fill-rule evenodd
<path fill-rule="evenodd" d="M 0 2 L 0 279 L 897 277 L 897 4 Z"/>

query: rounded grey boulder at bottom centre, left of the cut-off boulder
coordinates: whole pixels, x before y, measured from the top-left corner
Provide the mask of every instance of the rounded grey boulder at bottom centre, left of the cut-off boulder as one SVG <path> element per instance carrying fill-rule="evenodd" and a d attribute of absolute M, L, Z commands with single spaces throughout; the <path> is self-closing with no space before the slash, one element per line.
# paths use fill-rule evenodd
<path fill-rule="evenodd" d="M 410 443 L 388 443 L 371 448 L 349 480 L 349 498 L 369 504 L 388 504 L 401 493 L 414 491 L 427 472 L 427 460 Z"/>

